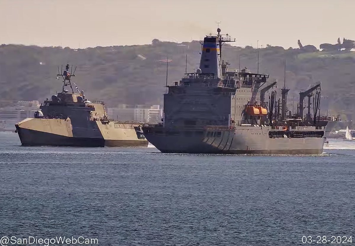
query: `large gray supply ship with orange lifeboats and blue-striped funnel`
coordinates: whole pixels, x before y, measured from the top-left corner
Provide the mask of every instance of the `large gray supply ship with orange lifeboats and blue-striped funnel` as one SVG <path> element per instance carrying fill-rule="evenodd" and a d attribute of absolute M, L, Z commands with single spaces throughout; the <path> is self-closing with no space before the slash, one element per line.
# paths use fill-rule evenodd
<path fill-rule="evenodd" d="M 163 122 L 143 126 L 148 141 L 164 153 L 321 154 L 326 123 L 287 115 L 286 86 L 281 102 L 275 90 L 266 102 L 277 81 L 247 68 L 229 69 L 222 45 L 235 39 L 217 32 L 203 40 L 200 68 L 167 85 Z M 313 106 L 316 115 L 319 103 Z"/>

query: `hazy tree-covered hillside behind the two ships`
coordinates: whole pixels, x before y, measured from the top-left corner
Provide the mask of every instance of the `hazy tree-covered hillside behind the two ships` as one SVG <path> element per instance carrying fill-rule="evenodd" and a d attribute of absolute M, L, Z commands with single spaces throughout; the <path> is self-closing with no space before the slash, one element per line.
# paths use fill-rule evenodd
<path fill-rule="evenodd" d="M 230 68 L 240 66 L 257 70 L 257 50 L 223 46 L 223 57 Z M 69 47 L 0 46 L 0 100 L 42 101 L 61 90 L 57 66 L 77 66 L 75 82 L 90 100 L 117 104 L 159 104 L 165 92 L 166 60 L 169 57 L 168 83 L 178 81 L 185 72 L 195 71 L 200 61 L 199 41 L 176 44 L 153 40 L 151 45 L 95 47 L 73 50 Z M 310 84 L 322 81 L 322 113 L 341 113 L 343 119 L 355 119 L 355 52 L 310 51 L 272 47 L 259 49 L 259 72 L 268 73 L 283 85 L 286 60 L 286 85 L 291 89 L 289 109 L 296 111 L 298 93 Z M 280 95 L 280 93 L 279 93 Z M 295 103 L 293 104 L 292 101 Z"/>

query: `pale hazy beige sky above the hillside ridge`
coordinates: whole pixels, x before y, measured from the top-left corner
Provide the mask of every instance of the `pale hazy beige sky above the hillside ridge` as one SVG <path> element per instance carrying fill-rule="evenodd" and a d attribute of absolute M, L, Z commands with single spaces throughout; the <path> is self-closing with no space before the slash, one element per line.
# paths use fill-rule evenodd
<path fill-rule="evenodd" d="M 355 0 L 0 0 L 0 44 L 85 48 L 201 40 L 297 47 L 355 40 Z"/>

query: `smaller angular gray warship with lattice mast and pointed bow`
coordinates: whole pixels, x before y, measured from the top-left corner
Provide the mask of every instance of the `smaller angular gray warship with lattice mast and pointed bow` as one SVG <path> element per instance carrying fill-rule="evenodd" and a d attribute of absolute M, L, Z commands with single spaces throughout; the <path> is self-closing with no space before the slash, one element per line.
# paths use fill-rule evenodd
<path fill-rule="evenodd" d="M 113 121 L 107 116 L 104 103 L 91 102 L 84 91 L 73 89 L 70 65 L 59 72 L 63 78 L 62 91 L 47 98 L 34 113 L 34 118 L 18 122 L 16 131 L 26 146 L 135 146 L 147 147 L 142 123 Z M 72 71 L 72 66 L 71 66 Z M 69 90 L 65 89 L 70 86 Z"/>

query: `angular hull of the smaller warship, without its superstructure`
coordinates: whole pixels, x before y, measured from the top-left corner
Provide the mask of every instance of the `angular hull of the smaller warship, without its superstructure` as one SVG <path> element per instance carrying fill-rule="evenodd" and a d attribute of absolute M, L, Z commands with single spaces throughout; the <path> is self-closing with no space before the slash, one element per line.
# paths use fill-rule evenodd
<path fill-rule="evenodd" d="M 132 124 L 91 121 L 72 125 L 70 119 L 28 118 L 15 126 L 23 146 L 148 146 Z"/>

